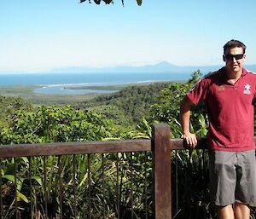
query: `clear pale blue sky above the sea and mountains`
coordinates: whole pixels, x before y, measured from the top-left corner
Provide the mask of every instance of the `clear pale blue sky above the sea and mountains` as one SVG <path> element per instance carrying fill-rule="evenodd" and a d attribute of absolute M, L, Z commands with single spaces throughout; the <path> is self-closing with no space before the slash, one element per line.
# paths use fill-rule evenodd
<path fill-rule="evenodd" d="M 219 65 L 233 38 L 247 45 L 246 63 L 256 64 L 255 0 L 113 2 L 1 0 L 0 72 Z"/>

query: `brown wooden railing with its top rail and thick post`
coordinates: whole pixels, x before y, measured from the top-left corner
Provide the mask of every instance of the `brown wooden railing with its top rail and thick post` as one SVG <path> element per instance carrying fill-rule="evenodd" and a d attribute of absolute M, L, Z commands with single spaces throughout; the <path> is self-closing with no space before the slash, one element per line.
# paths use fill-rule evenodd
<path fill-rule="evenodd" d="M 167 124 L 154 124 L 151 140 L 84 141 L 44 144 L 3 145 L 0 158 L 74 155 L 90 153 L 153 152 L 154 218 L 172 218 L 171 150 L 184 149 L 182 139 L 171 139 Z M 200 141 L 199 147 L 206 144 Z M 2 181 L 2 179 L 1 179 Z M 2 205 L 2 196 L 1 196 Z M 2 216 L 1 206 L 1 216 Z M 17 211 L 17 209 L 16 209 Z M 18 215 L 16 214 L 16 218 Z M 31 216 L 33 218 L 33 216 Z"/>

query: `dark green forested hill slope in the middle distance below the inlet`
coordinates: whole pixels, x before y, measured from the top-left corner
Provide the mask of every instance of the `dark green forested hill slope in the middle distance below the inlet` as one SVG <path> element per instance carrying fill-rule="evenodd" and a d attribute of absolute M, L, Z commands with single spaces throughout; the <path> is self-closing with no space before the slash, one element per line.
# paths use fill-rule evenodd
<path fill-rule="evenodd" d="M 101 95 L 90 101 L 81 102 L 77 107 L 115 107 L 120 114 L 126 115 L 125 123 L 139 123 L 141 118 L 150 115 L 150 107 L 159 101 L 160 90 L 171 83 L 154 83 L 148 85 L 132 85 L 110 95 Z M 108 111 L 111 114 L 112 111 Z M 115 114 L 115 112 L 114 112 Z M 114 117 L 111 116 L 110 117 Z M 122 121 L 124 121 L 122 119 Z"/>

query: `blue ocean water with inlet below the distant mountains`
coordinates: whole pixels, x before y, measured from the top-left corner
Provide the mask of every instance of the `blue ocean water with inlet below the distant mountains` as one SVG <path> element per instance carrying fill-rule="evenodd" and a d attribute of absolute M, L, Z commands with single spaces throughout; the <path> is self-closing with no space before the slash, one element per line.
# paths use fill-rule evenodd
<path fill-rule="evenodd" d="M 191 73 L 29 73 L 0 74 L 0 86 L 39 85 L 34 89 L 39 94 L 111 93 L 113 90 L 90 89 L 90 86 L 108 86 L 135 83 L 153 83 L 187 80 Z M 80 86 L 86 89 L 68 89 L 68 86 Z M 87 89 L 88 88 L 88 89 Z"/>

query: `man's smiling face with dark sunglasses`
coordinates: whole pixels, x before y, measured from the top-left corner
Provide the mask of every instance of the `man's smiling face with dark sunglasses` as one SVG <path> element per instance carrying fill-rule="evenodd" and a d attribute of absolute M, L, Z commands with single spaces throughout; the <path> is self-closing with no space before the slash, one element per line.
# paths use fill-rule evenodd
<path fill-rule="evenodd" d="M 229 72 L 240 72 L 245 58 L 246 55 L 243 54 L 243 49 L 241 47 L 229 49 L 226 51 L 226 54 L 223 55 L 223 61 L 226 62 L 226 69 Z"/>

